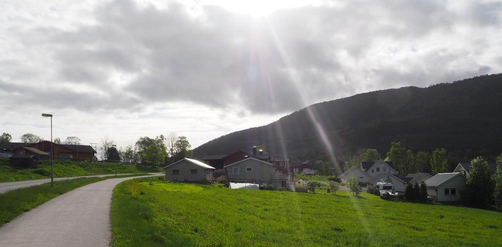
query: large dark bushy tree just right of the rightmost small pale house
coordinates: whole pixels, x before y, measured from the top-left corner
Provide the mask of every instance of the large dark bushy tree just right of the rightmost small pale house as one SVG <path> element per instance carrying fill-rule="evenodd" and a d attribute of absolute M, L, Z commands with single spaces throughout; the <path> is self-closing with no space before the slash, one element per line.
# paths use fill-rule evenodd
<path fill-rule="evenodd" d="M 460 197 L 467 206 L 486 207 L 493 196 L 494 183 L 488 161 L 478 156 L 471 160 L 469 175 Z"/>

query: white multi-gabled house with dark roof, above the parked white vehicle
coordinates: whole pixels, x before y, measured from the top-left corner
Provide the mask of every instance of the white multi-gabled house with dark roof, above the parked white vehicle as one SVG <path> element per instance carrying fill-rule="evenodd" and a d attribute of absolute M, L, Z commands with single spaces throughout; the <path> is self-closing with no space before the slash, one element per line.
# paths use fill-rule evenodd
<path fill-rule="evenodd" d="M 375 161 L 361 161 L 360 166 L 351 167 L 344 173 L 340 175 L 340 179 L 345 181 L 349 177 L 355 175 L 355 177 L 361 183 L 368 183 L 372 181 L 372 178 L 376 178 L 382 174 L 398 174 L 394 169 L 392 161 L 384 161 L 382 159 Z"/>

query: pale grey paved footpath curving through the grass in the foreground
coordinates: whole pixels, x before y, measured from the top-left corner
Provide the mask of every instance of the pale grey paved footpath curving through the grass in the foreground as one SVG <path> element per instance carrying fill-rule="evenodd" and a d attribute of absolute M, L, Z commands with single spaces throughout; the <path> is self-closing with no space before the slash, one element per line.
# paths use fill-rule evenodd
<path fill-rule="evenodd" d="M 82 186 L 26 212 L 0 228 L 0 246 L 108 246 L 110 203 L 115 186 L 107 179 Z"/>

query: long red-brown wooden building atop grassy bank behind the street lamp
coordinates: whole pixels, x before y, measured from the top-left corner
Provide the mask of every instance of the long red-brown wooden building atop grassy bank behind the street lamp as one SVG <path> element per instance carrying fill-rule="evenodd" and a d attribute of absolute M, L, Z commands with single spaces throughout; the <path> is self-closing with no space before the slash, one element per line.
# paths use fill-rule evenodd
<path fill-rule="evenodd" d="M 13 150 L 16 154 L 29 154 L 42 151 L 50 155 L 51 142 L 41 141 L 37 143 L 23 143 L 17 145 Z M 72 160 L 72 161 L 89 161 L 95 157 L 96 150 L 89 145 L 67 145 L 52 143 L 54 150 L 54 159 Z M 38 150 L 38 151 L 37 151 Z M 37 154 L 43 155 L 43 154 Z"/>

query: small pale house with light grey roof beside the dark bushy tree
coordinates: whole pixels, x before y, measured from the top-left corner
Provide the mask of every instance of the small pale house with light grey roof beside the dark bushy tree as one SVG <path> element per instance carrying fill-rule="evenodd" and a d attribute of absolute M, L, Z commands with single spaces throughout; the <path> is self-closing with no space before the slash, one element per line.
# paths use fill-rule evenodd
<path fill-rule="evenodd" d="M 462 173 L 438 173 L 425 181 L 427 195 L 438 202 L 460 201 L 460 190 L 465 185 Z"/>

